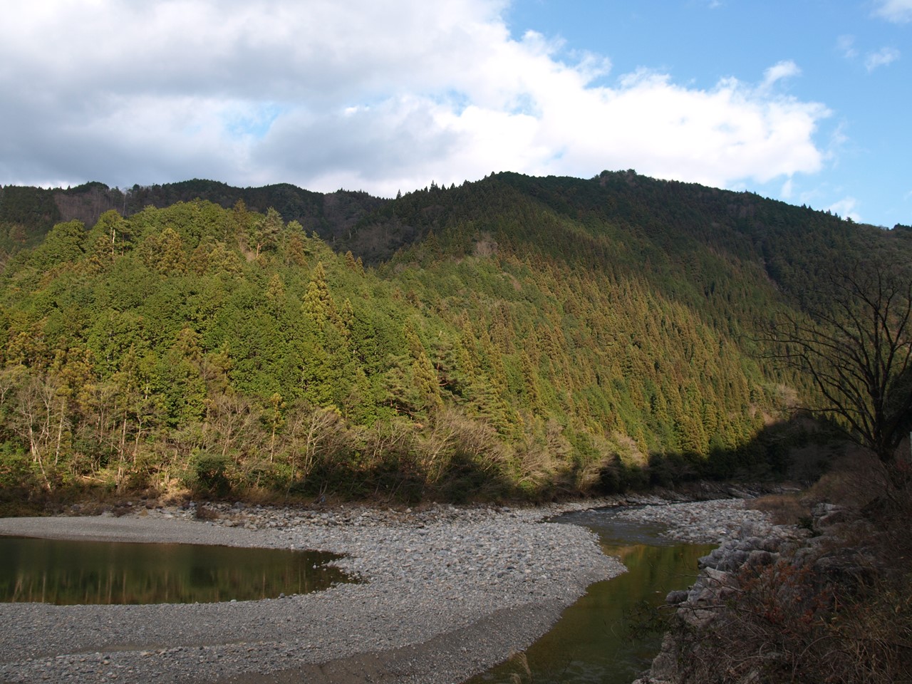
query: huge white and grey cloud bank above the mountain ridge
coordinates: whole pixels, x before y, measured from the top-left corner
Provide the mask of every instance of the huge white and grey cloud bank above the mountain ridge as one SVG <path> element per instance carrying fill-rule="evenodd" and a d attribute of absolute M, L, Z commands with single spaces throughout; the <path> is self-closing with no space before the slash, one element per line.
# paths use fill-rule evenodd
<path fill-rule="evenodd" d="M 395 6 L 392 6 L 395 5 Z M 689 88 L 510 37 L 503 0 L 44 0 L 0 23 L 0 182 L 394 194 L 491 171 L 734 186 L 820 170 L 800 69 Z M 4 67 L 3 65 L 6 65 Z M 10 65 L 15 65 L 11 67 Z M 596 80 L 597 79 L 597 80 Z"/>

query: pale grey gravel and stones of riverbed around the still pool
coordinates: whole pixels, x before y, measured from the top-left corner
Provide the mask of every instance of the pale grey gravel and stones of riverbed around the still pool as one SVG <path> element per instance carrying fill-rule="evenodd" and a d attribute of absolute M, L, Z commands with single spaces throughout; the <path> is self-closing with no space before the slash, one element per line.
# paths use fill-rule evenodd
<path fill-rule="evenodd" d="M 137 502 L 119 516 L 3 519 L 0 534 L 330 551 L 362 582 L 236 603 L 0 604 L 0 680 L 460 682 L 531 644 L 586 586 L 623 572 L 585 528 L 543 522 L 618 504 L 687 541 L 762 524 L 740 501 L 655 497 L 528 509 Z"/>

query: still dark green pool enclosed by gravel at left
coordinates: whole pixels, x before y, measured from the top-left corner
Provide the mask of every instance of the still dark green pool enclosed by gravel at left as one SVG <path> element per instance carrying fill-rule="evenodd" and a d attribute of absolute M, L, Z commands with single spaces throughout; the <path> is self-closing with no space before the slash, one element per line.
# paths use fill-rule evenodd
<path fill-rule="evenodd" d="M 338 556 L 202 544 L 0 536 L 0 601 L 211 603 L 306 594 L 349 581 Z"/>

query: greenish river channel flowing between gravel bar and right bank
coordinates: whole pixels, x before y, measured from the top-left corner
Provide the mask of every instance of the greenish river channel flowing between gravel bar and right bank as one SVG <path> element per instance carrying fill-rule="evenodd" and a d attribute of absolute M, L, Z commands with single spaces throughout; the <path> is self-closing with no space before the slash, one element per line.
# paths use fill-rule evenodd
<path fill-rule="evenodd" d="M 629 684 L 658 653 L 656 618 L 665 596 L 693 584 L 697 559 L 713 548 L 666 544 L 658 528 L 618 523 L 611 513 L 578 513 L 560 522 L 595 530 L 605 553 L 619 557 L 627 572 L 590 586 L 524 653 L 466 684 Z"/>

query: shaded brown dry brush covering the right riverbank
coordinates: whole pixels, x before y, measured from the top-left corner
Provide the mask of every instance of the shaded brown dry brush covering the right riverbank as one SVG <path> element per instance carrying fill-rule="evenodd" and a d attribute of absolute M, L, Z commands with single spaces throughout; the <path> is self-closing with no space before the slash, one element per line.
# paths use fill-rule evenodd
<path fill-rule="evenodd" d="M 670 681 L 912 681 L 912 496 L 895 482 L 857 451 L 806 492 L 754 502 L 811 536 L 775 563 L 742 565 L 711 617 L 675 614 Z"/>

